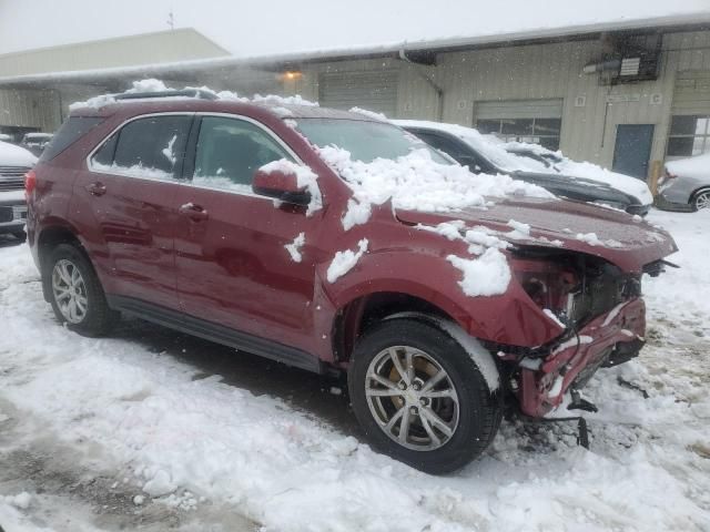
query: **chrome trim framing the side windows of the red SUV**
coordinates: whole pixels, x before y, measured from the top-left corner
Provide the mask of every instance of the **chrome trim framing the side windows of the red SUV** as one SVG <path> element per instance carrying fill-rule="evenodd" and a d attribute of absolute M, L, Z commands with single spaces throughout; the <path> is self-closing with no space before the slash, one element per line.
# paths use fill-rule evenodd
<path fill-rule="evenodd" d="M 170 184 L 173 184 L 173 185 L 189 186 L 189 187 L 193 187 L 193 188 L 202 188 L 202 190 L 205 190 L 205 191 L 223 192 L 223 193 L 227 193 L 227 194 L 234 194 L 234 195 L 237 195 L 237 196 L 255 197 L 255 198 L 260 198 L 260 200 L 268 200 L 270 202 L 273 202 L 273 201 L 276 200 L 274 197 L 265 196 L 265 195 L 262 195 L 262 194 L 256 194 L 254 192 L 247 193 L 247 192 L 242 192 L 242 191 L 230 191 L 229 188 L 217 188 L 217 187 L 214 187 L 214 186 L 195 185 L 195 184 L 192 183 L 192 181 L 176 180 L 174 177 L 172 180 L 160 180 L 158 177 L 149 177 L 149 176 L 145 176 L 145 175 L 136 175 L 135 173 L 132 173 L 132 172 L 121 172 L 120 170 L 112 171 L 111 173 L 108 173 L 108 172 L 105 172 L 103 170 L 99 170 L 95 166 L 93 166 L 93 163 L 92 163 L 91 160 L 94 156 L 94 154 L 99 150 L 101 150 L 101 147 L 103 147 L 103 145 L 109 141 L 109 139 L 111 139 L 116 132 L 119 132 L 121 129 L 123 129 L 125 125 L 130 124 L 131 122 L 134 122 L 134 121 L 141 120 L 141 119 L 150 119 L 150 117 L 154 117 L 154 116 L 193 116 L 193 117 L 194 116 L 221 116 L 221 117 L 226 117 L 226 119 L 242 120 L 244 122 L 248 122 L 248 123 L 260 127 L 262 131 L 264 131 L 264 133 L 266 133 L 271 139 L 273 139 L 276 142 L 276 144 L 278 144 L 288 155 L 291 155 L 291 157 L 295 161 L 296 164 L 301 164 L 301 165 L 305 166 L 305 163 L 303 162 L 303 160 L 298 155 L 296 155 L 296 153 L 292 150 L 292 147 L 288 144 L 286 144 L 283 141 L 283 139 L 281 139 L 278 135 L 276 135 L 270 127 L 265 126 L 260 121 L 252 119 L 251 116 L 245 116 L 243 114 L 219 113 L 219 112 L 211 112 L 211 111 L 204 111 L 204 112 L 165 111 L 165 112 L 160 112 L 160 113 L 139 114 L 136 116 L 131 116 L 130 119 L 121 122 L 113 130 L 111 130 L 111 132 L 109 134 L 106 134 L 103 137 L 103 140 L 97 145 L 97 147 L 94 147 L 91 152 L 89 152 L 89 155 L 87 155 L 87 157 L 84 160 L 84 162 L 87 164 L 87 168 L 90 172 L 98 173 L 98 174 L 120 175 L 122 177 L 130 177 L 130 178 L 133 178 L 133 180 L 150 181 L 150 182 L 155 182 L 155 183 L 170 183 Z M 192 177 L 191 177 L 191 180 L 192 180 Z M 323 193 L 323 191 L 321 191 L 321 193 Z"/>

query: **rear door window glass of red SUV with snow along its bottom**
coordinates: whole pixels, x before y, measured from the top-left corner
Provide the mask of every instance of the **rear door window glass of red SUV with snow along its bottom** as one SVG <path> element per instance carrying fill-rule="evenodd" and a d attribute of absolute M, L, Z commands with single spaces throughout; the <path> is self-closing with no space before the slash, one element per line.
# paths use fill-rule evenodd
<path fill-rule="evenodd" d="M 94 154 L 99 170 L 120 171 L 136 177 L 178 177 L 192 116 L 164 115 L 138 119 L 112 135 Z"/>

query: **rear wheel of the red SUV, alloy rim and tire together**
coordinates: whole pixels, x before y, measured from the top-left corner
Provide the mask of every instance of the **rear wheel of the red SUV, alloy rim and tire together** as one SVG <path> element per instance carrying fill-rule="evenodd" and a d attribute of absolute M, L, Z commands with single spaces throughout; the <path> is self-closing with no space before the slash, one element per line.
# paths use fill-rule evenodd
<path fill-rule="evenodd" d="M 50 254 L 43 279 L 52 309 L 67 327 L 87 336 L 111 329 L 118 313 L 111 310 L 91 263 L 77 247 L 58 245 Z"/>

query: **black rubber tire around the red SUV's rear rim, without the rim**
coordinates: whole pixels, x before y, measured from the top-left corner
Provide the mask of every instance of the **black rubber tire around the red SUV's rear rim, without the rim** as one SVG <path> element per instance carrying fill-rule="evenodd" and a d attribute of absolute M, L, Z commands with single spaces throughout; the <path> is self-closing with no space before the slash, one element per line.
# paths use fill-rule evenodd
<path fill-rule="evenodd" d="M 68 260 L 79 270 L 85 288 L 87 309 L 81 321 L 75 324 L 70 323 L 60 310 L 52 288 L 52 273 L 60 260 Z M 42 283 L 57 319 L 75 332 L 90 337 L 103 336 L 111 330 L 120 317 L 119 313 L 109 308 L 101 282 L 91 262 L 84 252 L 74 245 L 59 244 L 51 250 L 49 260 L 42 272 Z"/>

